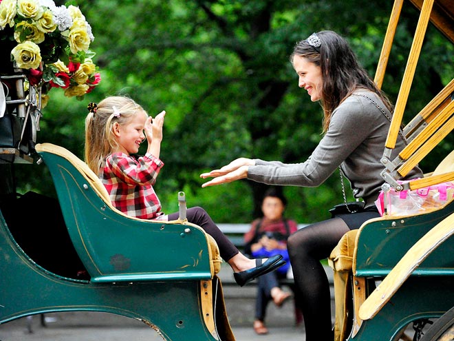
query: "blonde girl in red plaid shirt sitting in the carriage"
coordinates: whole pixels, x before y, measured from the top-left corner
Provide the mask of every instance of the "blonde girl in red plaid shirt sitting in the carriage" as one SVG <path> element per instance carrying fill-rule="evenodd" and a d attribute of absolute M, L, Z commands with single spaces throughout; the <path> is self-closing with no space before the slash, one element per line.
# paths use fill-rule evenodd
<path fill-rule="evenodd" d="M 154 120 L 132 99 L 110 96 L 96 105 L 89 103 L 85 118 L 85 161 L 102 180 L 114 207 L 142 219 L 176 220 L 179 213 L 166 215 L 153 185 L 164 163 L 160 160 L 162 126 L 166 112 Z M 145 132 L 145 134 L 144 134 Z M 135 157 L 147 138 L 144 156 Z M 219 230 L 202 207 L 187 210 L 190 223 L 213 236 L 221 257 L 234 271 L 241 287 L 254 278 L 285 264 L 282 256 L 251 260 Z"/>

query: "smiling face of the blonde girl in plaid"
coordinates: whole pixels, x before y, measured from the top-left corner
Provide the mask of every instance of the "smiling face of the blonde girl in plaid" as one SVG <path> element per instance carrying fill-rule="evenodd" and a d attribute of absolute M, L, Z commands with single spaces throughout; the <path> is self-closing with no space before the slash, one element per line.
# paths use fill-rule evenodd
<path fill-rule="evenodd" d="M 147 121 L 147 115 L 137 112 L 137 114 L 131 116 L 127 123 L 123 125 L 115 123 L 114 134 L 118 145 L 120 145 L 121 150 L 119 152 L 124 152 L 128 155 L 139 152 L 140 143 L 145 138 L 145 121 Z"/>

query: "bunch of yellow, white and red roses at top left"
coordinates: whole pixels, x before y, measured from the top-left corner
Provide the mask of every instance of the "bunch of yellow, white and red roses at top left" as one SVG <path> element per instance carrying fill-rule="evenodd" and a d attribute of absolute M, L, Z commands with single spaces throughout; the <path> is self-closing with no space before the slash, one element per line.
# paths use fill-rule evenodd
<path fill-rule="evenodd" d="M 76 6 L 0 0 L 0 43 L 7 47 L 2 53 L 8 53 L 9 64 L 23 69 L 26 86 L 41 89 L 41 107 L 53 87 L 82 99 L 100 83 L 95 54 L 89 50 L 92 41 L 91 26 Z"/>

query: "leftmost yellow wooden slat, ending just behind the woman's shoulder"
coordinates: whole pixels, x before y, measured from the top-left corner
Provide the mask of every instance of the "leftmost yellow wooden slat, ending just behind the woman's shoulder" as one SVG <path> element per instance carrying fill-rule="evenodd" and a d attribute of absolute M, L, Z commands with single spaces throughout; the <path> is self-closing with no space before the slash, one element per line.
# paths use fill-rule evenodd
<path fill-rule="evenodd" d="M 385 70 L 388 64 L 389 54 L 391 53 L 391 48 L 393 46 L 394 36 L 396 35 L 396 28 L 398 25 L 403 3 L 404 0 L 394 1 L 393 10 L 391 11 L 391 16 L 389 17 L 385 41 L 383 41 L 382 52 L 380 53 L 380 59 L 378 59 L 378 65 L 374 79 L 374 82 L 380 89 L 382 87 L 383 79 L 385 78 Z"/>

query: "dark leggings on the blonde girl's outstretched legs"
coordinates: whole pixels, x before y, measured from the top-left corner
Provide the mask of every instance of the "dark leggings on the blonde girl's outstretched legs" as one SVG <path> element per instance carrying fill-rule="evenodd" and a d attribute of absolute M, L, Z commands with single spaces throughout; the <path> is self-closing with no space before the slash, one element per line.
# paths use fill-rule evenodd
<path fill-rule="evenodd" d="M 180 214 L 173 213 L 169 214 L 169 220 L 177 220 Z M 207 234 L 212 236 L 219 247 L 219 253 L 221 254 L 222 259 L 226 262 L 230 260 L 233 256 L 239 253 L 237 247 L 233 245 L 232 242 L 226 237 L 225 234 L 217 227 L 213 219 L 206 213 L 202 207 L 191 207 L 186 210 L 186 218 L 188 218 L 189 223 L 199 225 L 206 231 Z"/>

